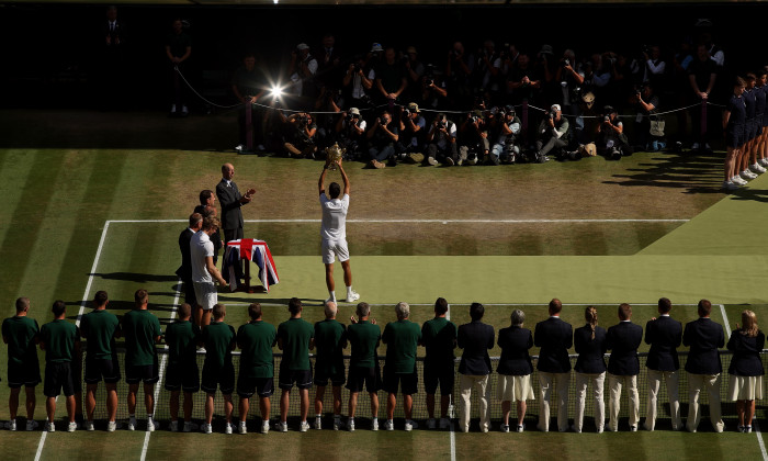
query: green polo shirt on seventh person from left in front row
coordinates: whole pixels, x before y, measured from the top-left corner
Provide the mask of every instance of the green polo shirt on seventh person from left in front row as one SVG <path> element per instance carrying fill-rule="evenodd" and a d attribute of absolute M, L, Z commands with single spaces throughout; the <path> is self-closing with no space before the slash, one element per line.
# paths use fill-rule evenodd
<path fill-rule="evenodd" d="M 263 321 L 252 321 L 237 329 L 237 345 L 240 347 L 240 375 L 247 378 L 274 378 L 274 356 L 272 348 L 278 344 L 274 325 Z"/>

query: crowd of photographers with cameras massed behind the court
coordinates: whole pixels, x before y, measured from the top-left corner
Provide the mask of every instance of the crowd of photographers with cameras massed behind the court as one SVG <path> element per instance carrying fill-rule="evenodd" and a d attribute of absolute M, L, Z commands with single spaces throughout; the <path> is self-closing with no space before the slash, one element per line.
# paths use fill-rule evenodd
<path fill-rule="evenodd" d="M 374 43 L 348 57 L 328 34 L 316 50 L 296 46 L 281 94 L 270 92 L 253 55 L 245 57 L 233 89 L 251 104 L 244 104 L 237 149 L 325 158 L 338 144 L 346 159 L 371 168 L 620 159 L 671 142 L 710 149 L 709 135 L 719 133 L 698 133 L 698 109 L 678 116 L 670 139 L 659 114 L 659 98 L 669 108 L 696 105 L 720 88 L 723 50 L 708 31 L 634 55 L 577 57 L 566 48 L 557 56 L 550 45 L 533 55 L 490 40 L 470 50 L 455 42 L 433 60 L 439 66 L 414 46 L 398 53 Z M 690 135 L 688 116 L 697 127 Z"/>

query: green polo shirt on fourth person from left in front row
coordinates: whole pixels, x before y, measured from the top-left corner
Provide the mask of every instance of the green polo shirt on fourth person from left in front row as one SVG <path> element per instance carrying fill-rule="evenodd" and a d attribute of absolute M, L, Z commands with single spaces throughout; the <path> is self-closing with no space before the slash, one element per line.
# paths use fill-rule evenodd
<path fill-rule="evenodd" d="M 125 366 L 154 364 L 157 360 L 155 339 L 162 335 L 157 316 L 146 310 L 128 311 L 123 315 L 121 329 L 125 337 Z"/>

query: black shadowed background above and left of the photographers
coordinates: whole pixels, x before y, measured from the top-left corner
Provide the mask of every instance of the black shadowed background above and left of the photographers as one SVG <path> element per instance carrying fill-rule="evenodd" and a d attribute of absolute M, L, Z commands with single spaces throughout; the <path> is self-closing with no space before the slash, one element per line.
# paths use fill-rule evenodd
<path fill-rule="evenodd" d="M 326 32 L 337 37 L 345 57 L 370 50 L 373 42 L 398 50 L 415 45 L 423 63 L 444 66 L 460 40 L 468 50 L 493 38 L 535 55 L 542 44 L 561 57 L 577 58 L 622 50 L 635 55 L 644 44 L 671 53 L 686 36 L 696 37 L 699 18 L 713 21 L 714 42 L 724 47 L 726 68 L 745 72 L 768 63 L 764 3 L 614 3 L 511 5 L 375 7 L 212 7 L 120 4 L 126 24 L 124 90 L 109 98 L 126 109 L 167 110 L 169 66 L 165 37 L 173 18 L 190 23 L 192 57 L 187 77 L 210 100 L 234 103 L 229 76 L 244 52 L 279 78 L 300 42 L 315 47 Z M 105 21 L 104 4 L 0 3 L 0 104 L 4 108 L 91 108 L 103 98 L 94 85 Z M 192 108 L 193 110 L 195 108 Z"/>

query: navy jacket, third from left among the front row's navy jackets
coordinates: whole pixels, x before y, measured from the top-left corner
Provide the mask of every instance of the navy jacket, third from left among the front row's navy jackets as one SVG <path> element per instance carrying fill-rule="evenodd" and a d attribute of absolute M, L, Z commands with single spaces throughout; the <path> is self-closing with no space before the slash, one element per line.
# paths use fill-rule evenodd
<path fill-rule="evenodd" d="M 568 349 L 574 344 L 571 324 L 550 317 L 537 324 L 533 344 L 541 348 L 537 370 L 547 373 L 567 373 L 571 371 Z"/>

